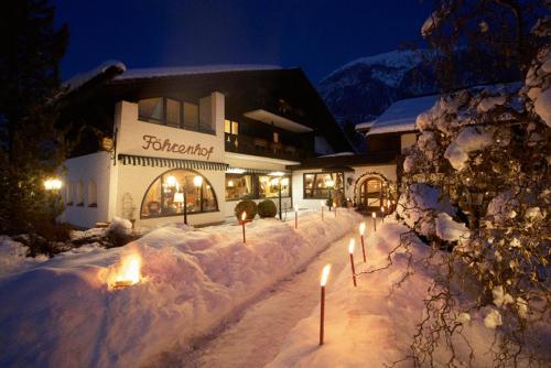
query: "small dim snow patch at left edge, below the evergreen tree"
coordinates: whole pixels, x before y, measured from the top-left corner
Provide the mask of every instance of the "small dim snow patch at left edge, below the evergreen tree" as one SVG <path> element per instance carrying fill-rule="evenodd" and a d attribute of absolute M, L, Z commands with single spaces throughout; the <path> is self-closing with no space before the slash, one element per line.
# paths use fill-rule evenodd
<path fill-rule="evenodd" d="M 8 236 L 0 236 L 0 277 L 18 272 L 47 260 L 46 256 L 25 257 L 28 248 Z"/>

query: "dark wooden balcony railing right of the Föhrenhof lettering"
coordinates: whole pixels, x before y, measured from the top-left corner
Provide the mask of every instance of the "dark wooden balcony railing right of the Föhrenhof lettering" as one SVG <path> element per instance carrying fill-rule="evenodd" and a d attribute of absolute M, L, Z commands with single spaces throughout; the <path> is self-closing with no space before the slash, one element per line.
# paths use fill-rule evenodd
<path fill-rule="evenodd" d="M 294 145 L 270 142 L 263 138 L 248 136 L 225 136 L 226 152 L 260 155 L 283 160 L 300 160 L 311 158 L 310 151 L 301 150 Z"/>

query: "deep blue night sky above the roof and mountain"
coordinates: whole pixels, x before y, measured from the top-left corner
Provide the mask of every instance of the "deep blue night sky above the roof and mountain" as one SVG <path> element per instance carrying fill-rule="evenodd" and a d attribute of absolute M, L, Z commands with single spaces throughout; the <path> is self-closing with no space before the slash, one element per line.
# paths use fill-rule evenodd
<path fill-rule="evenodd" d="M 432 1 L 53 0 L 71 41 L 64 79 L 119 59 L 129 68 L 301 66 L 317 84 L 357 57 L 423 45 Z"/>

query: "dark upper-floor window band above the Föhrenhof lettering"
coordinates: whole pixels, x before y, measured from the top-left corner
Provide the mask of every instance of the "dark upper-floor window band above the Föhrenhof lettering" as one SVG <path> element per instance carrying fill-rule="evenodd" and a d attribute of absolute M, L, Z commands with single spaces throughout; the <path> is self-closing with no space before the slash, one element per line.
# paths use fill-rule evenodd
<path fill-rule="evenodd" d="M 138 101 L 138 117 L 142 121 L 186 130 L 214 133 L 209 121 L 199 123 L 199 107 L 166 97 L 147 98 Z"/>

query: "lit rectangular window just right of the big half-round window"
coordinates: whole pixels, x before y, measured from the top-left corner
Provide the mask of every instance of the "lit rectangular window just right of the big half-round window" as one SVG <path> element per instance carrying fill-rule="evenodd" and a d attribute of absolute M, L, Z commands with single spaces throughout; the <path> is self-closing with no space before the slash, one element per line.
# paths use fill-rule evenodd
<path fill-rule="evenodd" d="M 226 174 L 226 201 L 278 197 L 279 183 L 281 183 L 281 196 L 291 196 L 291 178 L 289 176 Z"/>

